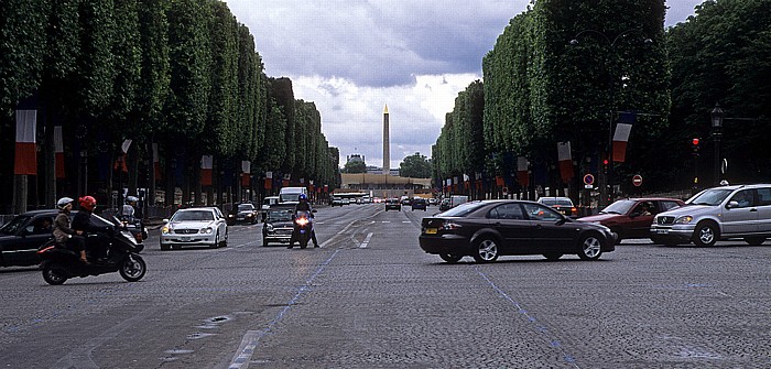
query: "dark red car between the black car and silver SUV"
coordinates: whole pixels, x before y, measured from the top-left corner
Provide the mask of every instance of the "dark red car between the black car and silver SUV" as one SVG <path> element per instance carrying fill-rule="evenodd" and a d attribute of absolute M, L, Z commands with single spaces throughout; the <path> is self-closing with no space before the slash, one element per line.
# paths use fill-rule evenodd
<path fill-rule="evenodd" d="M 661 213 L 683 206 L 677 198 L 640 197 L 616 200 L 599 214 L 578 218 L 580 221 L 600 224 L 617 235 L 616 242 L 629 238 L 650 238 L 653 217 Z M 647 210 L 645 210 L 647 209 Z"/>

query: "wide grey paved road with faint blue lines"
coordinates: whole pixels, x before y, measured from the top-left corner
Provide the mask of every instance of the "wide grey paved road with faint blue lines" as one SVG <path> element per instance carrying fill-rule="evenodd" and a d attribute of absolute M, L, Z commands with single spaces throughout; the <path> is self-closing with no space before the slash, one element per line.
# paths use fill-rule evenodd
<path fill-rule="evenodd" d="M 771 368 L 771 241 L 466 258 L 417 246 L 427 213 L 319 209 L 319 249 L 145 251 L 145 278 L 47 285 L 0 270 L 1 368 Z"/>

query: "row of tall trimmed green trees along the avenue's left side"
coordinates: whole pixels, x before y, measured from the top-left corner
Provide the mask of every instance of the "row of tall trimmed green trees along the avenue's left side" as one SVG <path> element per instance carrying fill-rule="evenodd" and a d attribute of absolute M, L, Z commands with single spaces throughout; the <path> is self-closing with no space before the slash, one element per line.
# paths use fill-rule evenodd
<path fill-rule="evenodd" d="M 322 133 L 315 106 L 295 100 L 291 80 L 265 75 L 253 36 L 224 2 L 10 0 L 0 12 L 0 151 L 13 158 L 14 110 L 36 109 L 43 153 L 36 191 L 46 205 L 56 189 L 112 188 L 112 161 L 124 140 L 133 140 L 130 188 L 162 177 L 167 204 L 174 187 L 202 198 L 203 155 L 213 155 L 214 173 L 237 173 L 250 161 L 259 181 L 273 172 L 335 185 L 339 153 Z M 69 173 L 58 184 L 55 126 Z M 158 178 L 152 144 L 161 156 Z M 12 161 L 0 163 L 0 186 L 11 188 Z M 9 192 L 0 194 L 0 204 L 10 202 Z"/>

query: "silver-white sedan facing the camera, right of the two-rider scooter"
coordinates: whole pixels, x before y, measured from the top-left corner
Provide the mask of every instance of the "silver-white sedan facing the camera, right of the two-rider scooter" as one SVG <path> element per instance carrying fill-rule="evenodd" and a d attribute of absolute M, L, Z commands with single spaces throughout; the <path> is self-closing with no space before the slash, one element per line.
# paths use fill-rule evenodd
<path fill-rule="evenodd" d="M 216 207 L 180 209 L 163 219 L 161 250 L 180 249 L 183 246 L 205 245 L 210 248 L 228 246 L 228 225 Z"/>

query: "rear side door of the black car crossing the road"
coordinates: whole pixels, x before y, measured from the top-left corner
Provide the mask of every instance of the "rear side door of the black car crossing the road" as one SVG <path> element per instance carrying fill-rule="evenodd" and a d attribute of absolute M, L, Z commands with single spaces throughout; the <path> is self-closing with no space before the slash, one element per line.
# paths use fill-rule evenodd
<path fill-rule="evenodd" d="M 490 227 L 503 237 L 503 252 L 517 253 L 528 248 L 532 223 L 525 219 L 517 203 L 496 206 L 488 213 Z"/>

